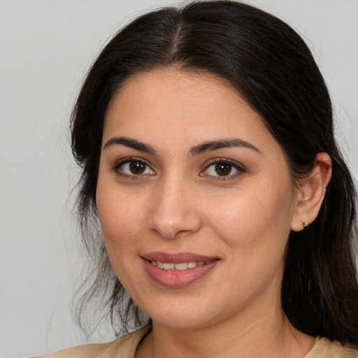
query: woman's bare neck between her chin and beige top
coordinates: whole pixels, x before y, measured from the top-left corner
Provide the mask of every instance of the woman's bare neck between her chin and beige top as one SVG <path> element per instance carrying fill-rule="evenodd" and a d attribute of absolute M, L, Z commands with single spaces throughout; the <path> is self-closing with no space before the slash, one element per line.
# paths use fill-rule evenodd
<path fill-rule="evenodd" d="M 194 329 L 153 322 L 136 358 L 303 358 L 312 348 L 314 338 L 294 329 L 280 306 L 264 315 L 250 314 Z"/>

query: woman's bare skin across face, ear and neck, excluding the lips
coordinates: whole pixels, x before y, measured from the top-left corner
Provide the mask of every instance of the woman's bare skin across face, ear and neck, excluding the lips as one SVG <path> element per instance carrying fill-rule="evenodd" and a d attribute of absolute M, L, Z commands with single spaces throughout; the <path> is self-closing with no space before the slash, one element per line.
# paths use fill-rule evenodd
<path fill-rule="evenodd" d="M 232 138 L 256 149 L 191 154 Z M 141 161 L 143 173 L 124 159 Z M 220 159 L 228 174 L 215 170 Z M 280 144 L 222 79 L 169 68 L 127 80 L 106 113 L 96 203 L 113 269 L 152 318 L 136 357 L 304 357 L 314 338 L 289 324 L 280 303 L 285 248 L 291 229 L 315 219 L 329 178 L 320 153 L 296 185 Z M 141 259 L 157 251 L 219 262 L 191 285 L 163 287 Z"/>

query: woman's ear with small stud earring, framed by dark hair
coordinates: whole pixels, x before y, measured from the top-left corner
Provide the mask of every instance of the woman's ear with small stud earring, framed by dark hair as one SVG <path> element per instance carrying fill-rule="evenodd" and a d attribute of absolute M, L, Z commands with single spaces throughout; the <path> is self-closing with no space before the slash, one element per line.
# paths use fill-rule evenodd
<path fill-rule="evenodd" d="M 326 187 L 331 180 L 332 161 L 327 153 L 317 153 L 315 164 L 306 178 L 300 180 L 296 194 L 296 208 L 291 229 L 301 231 L 315 220 L 320 211 Z"/>

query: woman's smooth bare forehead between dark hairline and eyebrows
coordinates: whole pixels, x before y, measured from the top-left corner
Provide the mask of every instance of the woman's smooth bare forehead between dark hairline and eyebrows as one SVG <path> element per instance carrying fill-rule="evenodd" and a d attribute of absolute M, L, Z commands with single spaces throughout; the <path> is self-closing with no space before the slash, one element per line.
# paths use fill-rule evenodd
<path fill-rule="evenodd" d="M 110 136 L 172 144 L 184 138 L 188 145 L 233 136 L 256 146 L 276 142 L 227 80 L 176 69 L 136 73 L 124 83 L 106 112 L 103 141 Z"/>

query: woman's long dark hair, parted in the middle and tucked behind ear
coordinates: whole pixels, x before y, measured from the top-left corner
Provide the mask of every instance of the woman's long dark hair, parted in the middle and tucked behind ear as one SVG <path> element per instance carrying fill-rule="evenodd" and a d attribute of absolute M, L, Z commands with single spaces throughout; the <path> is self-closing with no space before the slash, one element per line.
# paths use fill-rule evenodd
<path fill-rule="evenodd" d="M 358 345 L 357 193 L 334 139 L 329 92 L 291 27 L 236 1 L 195 1 L 142 15 L 110 40 L 87 74 L 71 120 L 73 155 L 82 168 L 78 217 L 93 264 L 78 317 L 97 297 L 117 334 L 129 322 L 137 327 L 148 320 L 110 267 L 96 183 L 110 99 L 134 73 L 168 66 L 229 80 L 282 146 L 293 178 L 309 173 L 318 152 L 329 154 L 333 173 L 320 213 L 310 227 L 289 236 L 282 307 L 306 334 Z"/>

